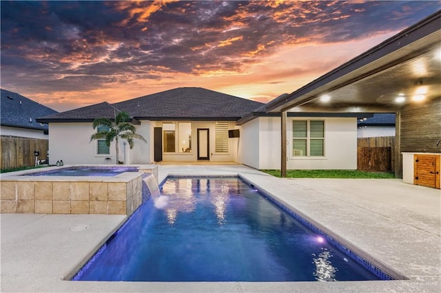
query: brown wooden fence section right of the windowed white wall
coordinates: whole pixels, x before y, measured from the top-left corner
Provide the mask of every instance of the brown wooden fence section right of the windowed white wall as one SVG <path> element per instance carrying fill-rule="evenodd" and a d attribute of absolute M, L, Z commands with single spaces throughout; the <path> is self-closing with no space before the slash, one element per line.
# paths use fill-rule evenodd
<path fill-rule="evenodd" d="M 358 138 L 357 169 L 362 171 L 394 171 L 394 136 Z"/>

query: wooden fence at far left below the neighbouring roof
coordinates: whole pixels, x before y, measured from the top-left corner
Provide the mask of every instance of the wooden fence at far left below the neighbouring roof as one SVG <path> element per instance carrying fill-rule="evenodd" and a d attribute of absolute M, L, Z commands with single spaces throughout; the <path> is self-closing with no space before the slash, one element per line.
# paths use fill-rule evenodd
<path fill-rule="evenodd" d="M 34 166 L 34 151 L 39 151 L 39 160 L 46 160 L 48 158 L 48 149 L 48 140 L 1 136 L 1 169 Z"/>

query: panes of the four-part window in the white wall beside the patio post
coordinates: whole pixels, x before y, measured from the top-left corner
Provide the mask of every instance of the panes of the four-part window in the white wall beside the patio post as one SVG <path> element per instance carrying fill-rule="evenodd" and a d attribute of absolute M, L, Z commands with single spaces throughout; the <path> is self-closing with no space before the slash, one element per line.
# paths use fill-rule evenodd
<path fill-rule="evenodd" d="M 325 155 L 325 121 L 293 120 L 292 155 L 321 157 Z"/>

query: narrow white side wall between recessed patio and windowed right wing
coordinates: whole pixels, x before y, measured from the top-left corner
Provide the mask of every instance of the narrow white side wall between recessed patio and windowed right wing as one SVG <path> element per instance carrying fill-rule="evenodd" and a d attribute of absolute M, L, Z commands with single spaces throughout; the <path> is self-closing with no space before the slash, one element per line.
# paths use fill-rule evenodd
<path fill-rule="evenodd" d="M 260 169 L 259 165 L 259 119 L 242 125 L 239 138 L 238 162 Z"/>

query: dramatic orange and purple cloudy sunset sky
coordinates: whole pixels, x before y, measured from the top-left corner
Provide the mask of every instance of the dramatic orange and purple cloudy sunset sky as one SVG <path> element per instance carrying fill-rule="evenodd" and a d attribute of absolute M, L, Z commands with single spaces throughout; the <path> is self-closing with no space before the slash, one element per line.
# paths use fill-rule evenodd
<path fill-rule="evenodd" d="M 268 102 L 441 1 L 1 1 L 1 88 L 57 111 L 176 87 Z"/>

